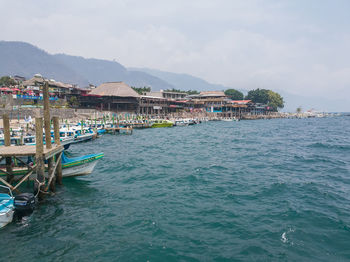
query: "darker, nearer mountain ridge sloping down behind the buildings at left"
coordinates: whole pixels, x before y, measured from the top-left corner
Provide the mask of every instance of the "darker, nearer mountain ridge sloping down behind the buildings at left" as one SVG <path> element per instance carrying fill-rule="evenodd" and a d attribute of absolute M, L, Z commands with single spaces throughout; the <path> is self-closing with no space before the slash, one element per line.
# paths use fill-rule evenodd
<path fill-rule="evenodd" d="M 0 41 L 0 57 L 0 76 L 20 75 L 31 78 L 40 73 L 46 78 L 81 87 L 123 81 L 136 87 L 151 86 L 155 90 L 174 88 L 162 79 L 144 72 L 129 71 L 114 61 L 65 54 L 52 55 L 25 42 Z"/>

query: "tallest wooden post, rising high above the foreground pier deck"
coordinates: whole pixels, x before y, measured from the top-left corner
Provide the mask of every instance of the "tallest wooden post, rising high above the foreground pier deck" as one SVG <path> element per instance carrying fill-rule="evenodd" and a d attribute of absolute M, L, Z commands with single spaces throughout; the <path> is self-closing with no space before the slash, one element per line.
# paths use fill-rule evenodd
<path fill-rule="evenodd" d="M 49 84 L 46 82 L 43 89 L 43 98 L 44 98 L 44 128 L 45 128 L 45 144 L 46 149 L 51 149 L 51 117 L 50 117 L 50 101 L 49 101 Z M 53 157 L 50 157 L 47 160 L 48 165 L 48 174 L 52 173 L 53 170 Z M 55 183 L 52 180 L 52 183 L 49 185 L 52 192 L 55 191 Z"/>

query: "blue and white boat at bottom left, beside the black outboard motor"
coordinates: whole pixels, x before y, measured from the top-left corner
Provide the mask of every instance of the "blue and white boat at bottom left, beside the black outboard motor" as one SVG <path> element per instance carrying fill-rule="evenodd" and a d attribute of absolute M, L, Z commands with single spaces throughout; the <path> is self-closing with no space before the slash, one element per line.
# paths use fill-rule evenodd
<path fill-rule="evenodd" d="M 8 190 L 8 194 L 0 193 L 0 228 L 11 223 L 14 213 L 14 197 L 10 188 L 0 185 L 0 188 Z"/>

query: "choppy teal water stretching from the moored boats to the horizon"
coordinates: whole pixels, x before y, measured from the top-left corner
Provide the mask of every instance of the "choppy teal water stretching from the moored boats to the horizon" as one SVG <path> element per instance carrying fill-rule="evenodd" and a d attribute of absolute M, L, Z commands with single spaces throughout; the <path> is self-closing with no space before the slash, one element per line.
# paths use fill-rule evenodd
<path fill-rule="evenodd" d="M 350 117 L 209 122 L 105 153 L 0 231 L 6 261 L 350 260 Z"/>

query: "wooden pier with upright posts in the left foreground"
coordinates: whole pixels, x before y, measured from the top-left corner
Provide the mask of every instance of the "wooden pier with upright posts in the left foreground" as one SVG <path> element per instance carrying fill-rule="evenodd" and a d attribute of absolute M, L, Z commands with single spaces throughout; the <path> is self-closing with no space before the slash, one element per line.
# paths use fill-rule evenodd
<path fill-rule="evenodd" d="M 50 189 L 55 192 L 55 183 L 62 183 L 62 163 L 61 156 L 63 153 L 63 146 L 60 144 L 59 137 L 59 119 L 53 117 L 54 124 L 54 139 L 55 144 L 51 144 L 51 117 L 49 108 L 49 88 L 46 83 L 43 88 L 44 93 L 44 121 L 42 117 L 35 118 L 35 146 L 11 146 L 10 137 L 10 121 L 7 114 L 3 115 L 4 126 L 4 140 L 5 146 L 0 147 L 0 161 L 6 160 L 6 170 L 0 168 L 1 172 L 6 174 L 6 180 L 0 177 L 2 182 L 11 190 L 20 193 L 18 187 L 29 177 L 34 180 L 34 193 L 38 195 L 39 199 L 43 199 L 45 193 Z M 45 123 L 45 147 L 43 141 L 43 122 Z M 30 165 L 21 159 L 22 157 L 34 157 L 34 165 Z M 17 179 L 14 177 L 15 168 L 13 167 L 13 160 L 19 162 L 24 166 L 25 174 Z M 47 161 L 47 180 L 45 176 L 45 164 Z M 22 169 L 23 170 L 23 169 Z"/>

